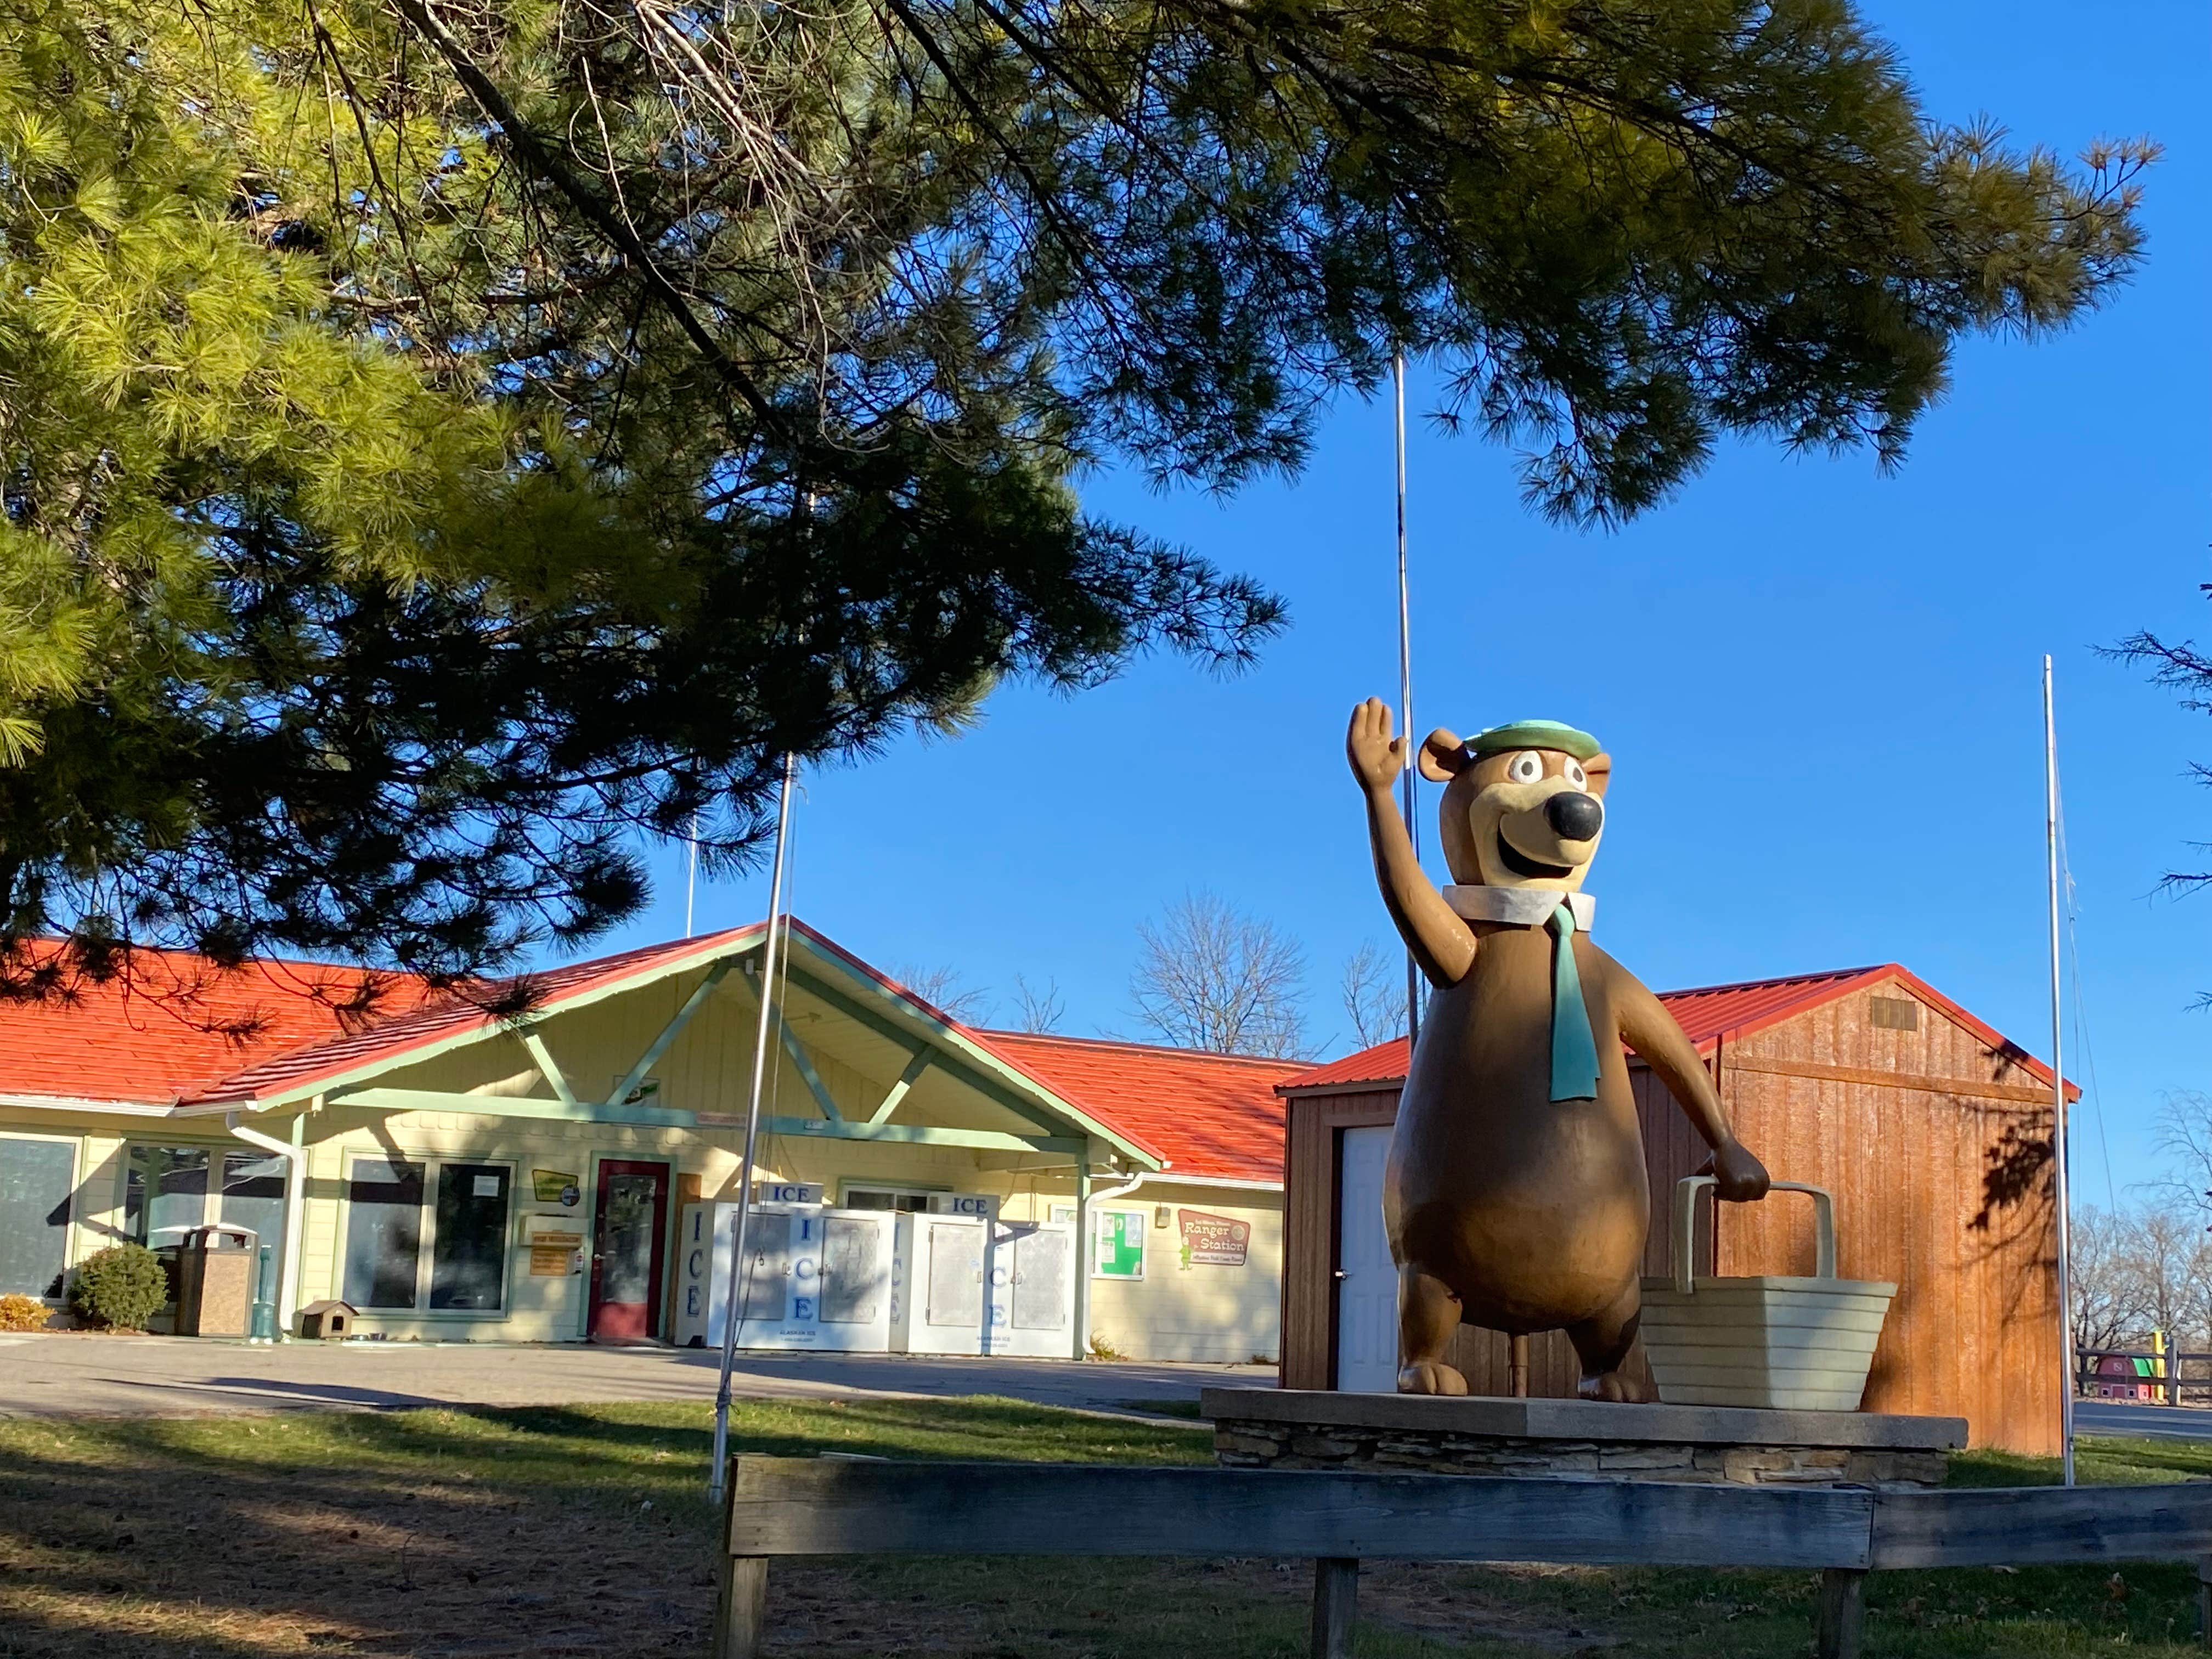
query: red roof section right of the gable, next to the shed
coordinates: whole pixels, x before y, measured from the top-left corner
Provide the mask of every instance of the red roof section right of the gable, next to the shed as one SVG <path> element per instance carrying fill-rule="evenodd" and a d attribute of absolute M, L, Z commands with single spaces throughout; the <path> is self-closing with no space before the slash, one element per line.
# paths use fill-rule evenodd
<path fill-rule="evenodd" d="M 1274 1091 L 1305 1071 L 1298 1060 L 1026 1031 L 971 1035 L 1055 1095 L 1133 1130 L 1168 1159 L 1170 1175 L 1283 1179 L 1283 1102 Z"/>

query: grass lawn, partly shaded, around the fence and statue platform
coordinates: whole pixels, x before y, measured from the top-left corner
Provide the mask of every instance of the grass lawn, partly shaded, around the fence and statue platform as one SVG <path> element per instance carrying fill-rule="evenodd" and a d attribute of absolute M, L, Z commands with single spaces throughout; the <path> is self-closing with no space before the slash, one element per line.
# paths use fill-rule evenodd
<path fill-rule="evenodd" d="M 1133 1402 L 1157 1409 L 1157 1402 Z M 703 1659 L 712 1517 L 695 1405 L 0 1422 L 0 1659 Z M 741 1402 L 810 1455 L 1210 1462 L 1197 1425 L 1015 1400 Z M 2086 1442 L 2088 1480 L 2212 1475 L 2212 1447 Z M 2048 1480 L 1958 1460 L 1962 1484 Z M 774 1650 L 863 1659 L 1283 1659 L 1303 1562 L 779 1562 Z M 1367 1659 L 1798 1659 L 1809 1573 L 1376 1566 Z M 2183 1566 L 1887 1573 L 1869 1652 L 2199 1652 Z"/>

